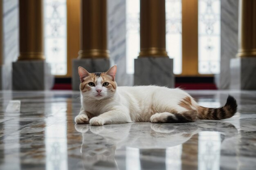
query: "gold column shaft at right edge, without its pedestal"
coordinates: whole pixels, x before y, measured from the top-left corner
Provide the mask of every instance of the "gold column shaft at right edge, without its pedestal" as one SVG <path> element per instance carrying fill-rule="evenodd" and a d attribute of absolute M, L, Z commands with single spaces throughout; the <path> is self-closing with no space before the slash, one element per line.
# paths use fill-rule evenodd
<path fill-rule="evenodd" d="M 239 2 L 237 57 L 256 57 L 256 0 Z"/>

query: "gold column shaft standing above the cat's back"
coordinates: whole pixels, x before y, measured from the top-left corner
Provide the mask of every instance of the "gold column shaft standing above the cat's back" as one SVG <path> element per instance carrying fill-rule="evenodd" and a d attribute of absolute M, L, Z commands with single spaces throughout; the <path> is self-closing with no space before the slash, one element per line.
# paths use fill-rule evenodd
<path fill-rule="evenodd" d="M 139 57 L 168 57 L 165 45 L 165 0 L 140 0 Z"/>

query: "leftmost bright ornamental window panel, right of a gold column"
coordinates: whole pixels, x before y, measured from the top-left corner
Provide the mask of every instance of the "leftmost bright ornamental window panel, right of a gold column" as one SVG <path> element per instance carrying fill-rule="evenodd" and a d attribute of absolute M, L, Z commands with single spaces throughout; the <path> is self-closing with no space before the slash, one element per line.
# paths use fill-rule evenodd
<path fill-rule="evenodd" d="M 53 75 L 67 74 L 66 0 L 44 0 L 44 44 L 46 62 Z"/>

